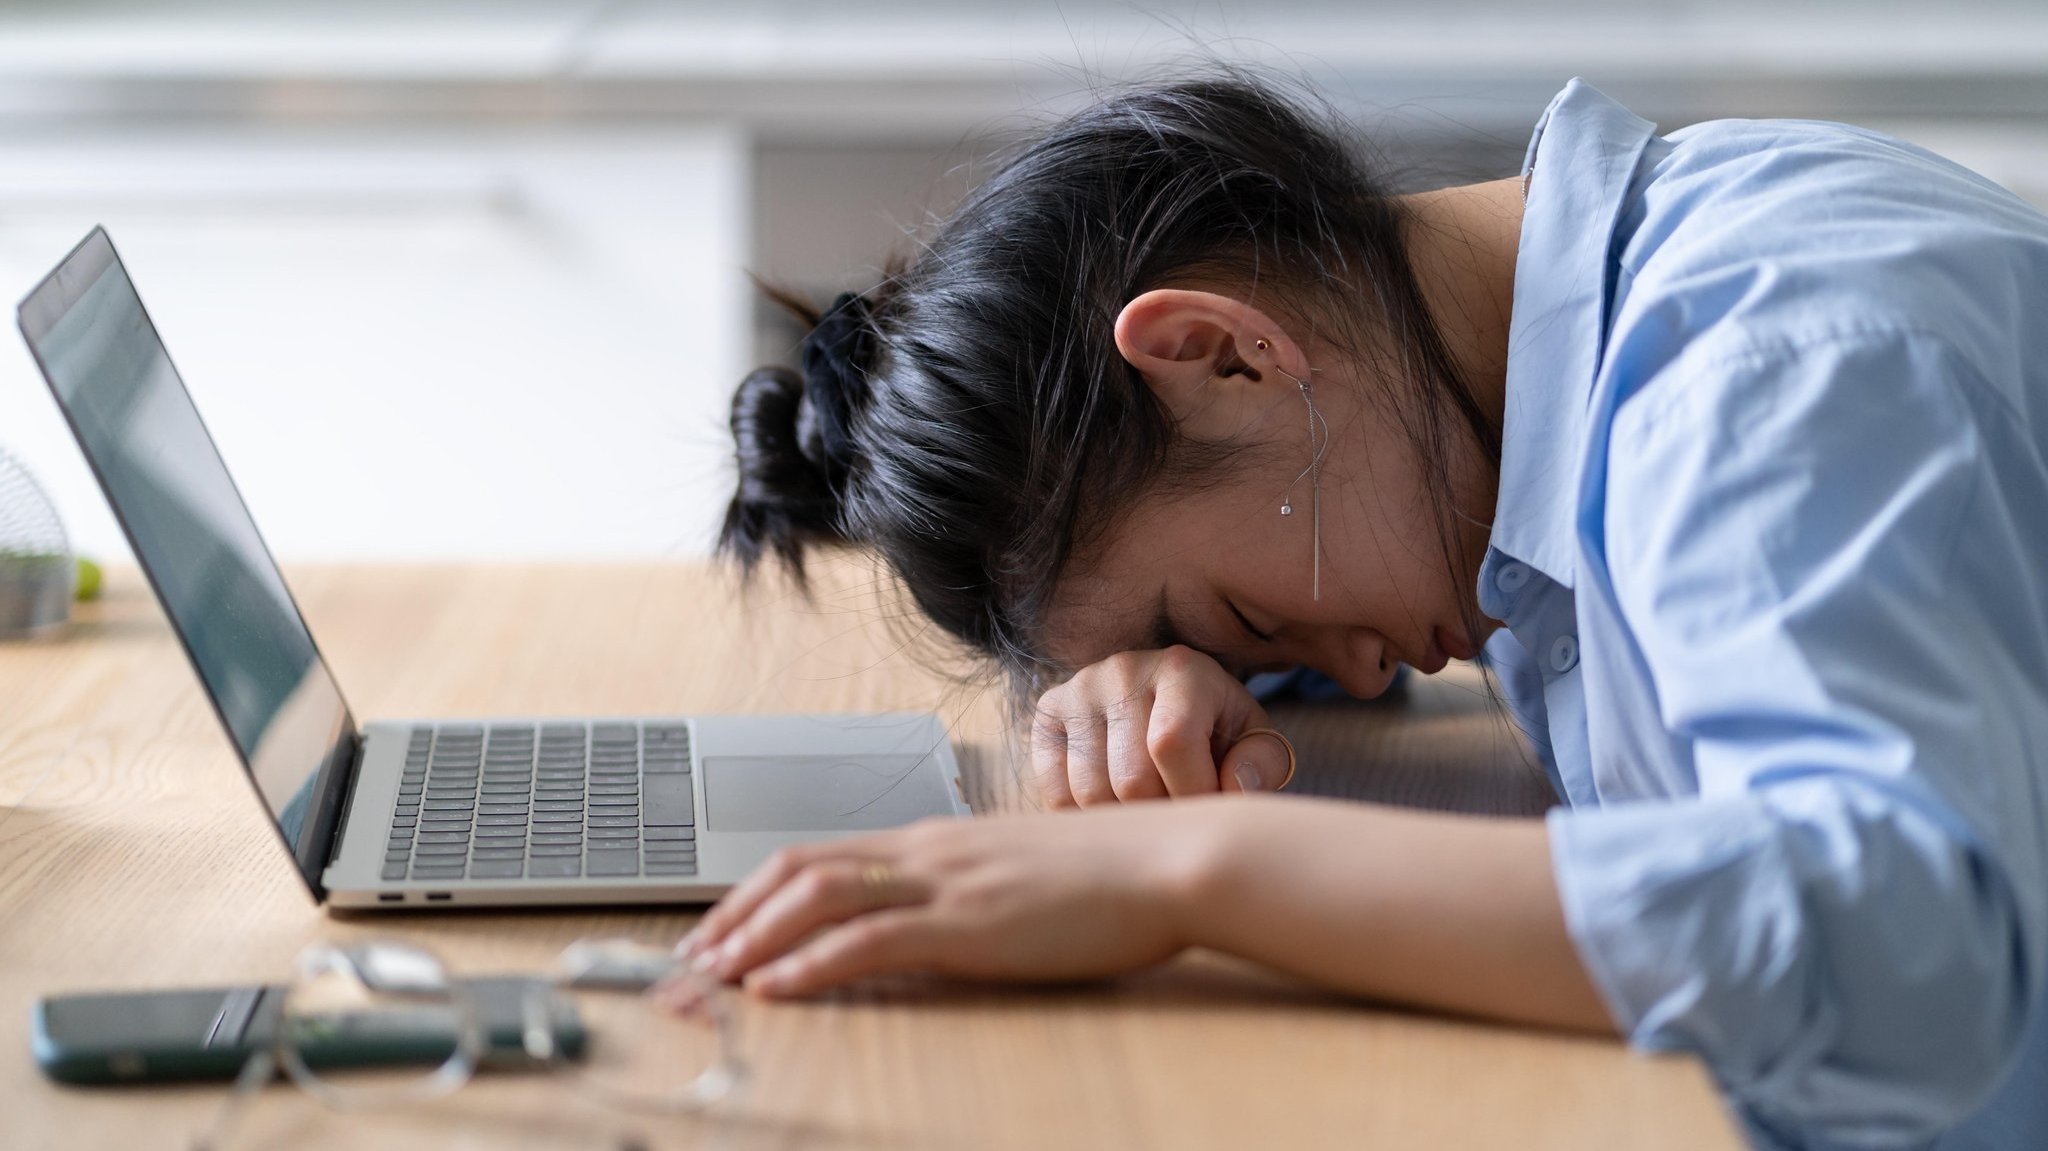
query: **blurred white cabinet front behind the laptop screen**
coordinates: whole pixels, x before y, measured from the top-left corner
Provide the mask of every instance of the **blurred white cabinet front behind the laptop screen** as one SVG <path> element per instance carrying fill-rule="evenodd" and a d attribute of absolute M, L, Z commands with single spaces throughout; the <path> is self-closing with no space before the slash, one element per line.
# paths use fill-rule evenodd
<path fill-rule="evenodd" d="M 279 555 L 702 551 L 745 360 L 735 131 L 94 131 L 0 156 L 4 291 L 104 223 Z M 121 555 L 0 344 L 0 442 L 76 547 Z"/>

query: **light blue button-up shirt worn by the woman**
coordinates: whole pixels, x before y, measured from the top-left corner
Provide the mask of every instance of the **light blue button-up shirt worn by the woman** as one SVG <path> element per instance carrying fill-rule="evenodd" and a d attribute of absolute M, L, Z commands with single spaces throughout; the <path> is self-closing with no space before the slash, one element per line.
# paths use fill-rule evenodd
<path fill-rule="evenodd" d="M 2048 219 L 1579 82 L 1528 164 L 1479 598 L 1587 971 L 1759 1147 L 2042 1151 Z"/>

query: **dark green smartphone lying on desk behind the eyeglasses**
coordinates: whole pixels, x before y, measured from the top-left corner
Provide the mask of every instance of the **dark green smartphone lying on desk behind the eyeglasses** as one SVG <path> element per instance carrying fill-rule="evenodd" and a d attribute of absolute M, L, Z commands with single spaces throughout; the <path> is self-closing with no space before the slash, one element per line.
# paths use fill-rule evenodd
<path fill-rule="evenodd" d="M 522 1061 L 535 979 L 471 979 L 469 987 L 489 1036 L 485 1063 Z M 233 1079 L 276 1034 L 283 995 L 274 985 L 49 995 L 35 1004 L 29 1042 L 59 1083 Z M 584 1051 L 584 1024 L 573 1004 L 557 997 L 553 1008 L 555 1045 L 573 1059 Z M 449 1012 L 432 1008 L 334 1016 L 315 1034 L 303 1049 L 311 1067 L 430 1067 L 455 1049 Z"/>

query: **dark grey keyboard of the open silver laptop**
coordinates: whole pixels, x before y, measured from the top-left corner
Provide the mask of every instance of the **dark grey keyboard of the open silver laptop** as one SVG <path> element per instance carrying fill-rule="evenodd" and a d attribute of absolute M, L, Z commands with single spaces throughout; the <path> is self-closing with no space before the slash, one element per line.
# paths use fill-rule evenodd
<path fill-rule="evenodd" d="M 414 727 L 385 879 L 696 875 L 682 723 Z"/>

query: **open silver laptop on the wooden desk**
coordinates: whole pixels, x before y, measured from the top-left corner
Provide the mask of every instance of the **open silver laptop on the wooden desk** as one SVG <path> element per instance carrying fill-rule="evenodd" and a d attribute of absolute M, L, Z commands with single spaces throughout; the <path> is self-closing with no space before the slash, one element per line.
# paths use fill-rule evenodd
<path fill-rule="evenodd" d="M 930 713 L 358 727 L 106 231 L 16 315 L 315 901 L 696 903 L 786 844 L 969 813 Z"/>

